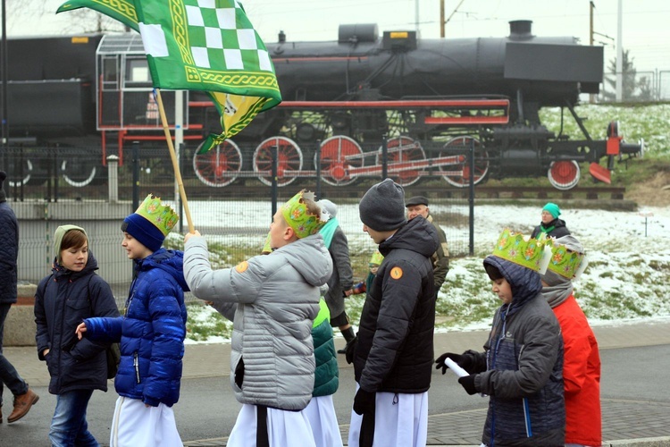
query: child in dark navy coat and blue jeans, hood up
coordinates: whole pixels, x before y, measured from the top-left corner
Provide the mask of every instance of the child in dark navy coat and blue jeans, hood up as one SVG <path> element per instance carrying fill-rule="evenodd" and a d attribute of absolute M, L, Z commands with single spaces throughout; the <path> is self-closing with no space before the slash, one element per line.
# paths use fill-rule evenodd
<path fill-rule="evenodd" d="M 112 289 L 96 274 L 97 261 L 83 228 L 63 225 L 54 233 L 54 267 L 35 295 L 35 341 L 56 395 L 49 440 L 57 446 L 96 446 L 86 409 L 94 390 L 107 391 L 108 343 L 77 340 L 74 330 L 89 316 L 119 316 Z"/>

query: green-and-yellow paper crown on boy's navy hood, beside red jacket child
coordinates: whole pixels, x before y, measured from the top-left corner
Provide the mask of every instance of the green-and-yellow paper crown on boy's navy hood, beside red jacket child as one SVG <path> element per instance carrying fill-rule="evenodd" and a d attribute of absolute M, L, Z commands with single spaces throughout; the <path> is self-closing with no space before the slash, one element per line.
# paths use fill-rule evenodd
<path fill-rule="evenodd" d="M 551 259 L 551 246 L 551 240 L 544 234 L 540 239 L 531 239 L 506 228 L 500 233 L 492 254 L 544 274 Z"/>

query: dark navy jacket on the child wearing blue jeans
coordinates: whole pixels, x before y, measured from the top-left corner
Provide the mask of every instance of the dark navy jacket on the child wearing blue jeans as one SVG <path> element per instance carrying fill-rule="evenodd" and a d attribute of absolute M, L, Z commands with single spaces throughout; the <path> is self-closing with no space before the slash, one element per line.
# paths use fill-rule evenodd
<path fill-rule="evenodd" d="M 81 272 L 72 272 L 54 261 L 52 274 L 38 285 L 35 295 L 35 341 L 38 357 L 51 375 L 49 392 L 107 391 L 108 343 L 77 340 L 74 330 L 89 316 L 119 316 L 112 289 L 95 271 L 97 261 L 88 252 Z M 48 349 L 46 358 L 42 355 Z"/>

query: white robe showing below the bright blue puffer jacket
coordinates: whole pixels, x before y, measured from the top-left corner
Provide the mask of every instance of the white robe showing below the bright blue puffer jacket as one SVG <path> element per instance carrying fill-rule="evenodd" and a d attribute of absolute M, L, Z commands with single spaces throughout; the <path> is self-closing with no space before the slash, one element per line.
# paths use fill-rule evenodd
<path fill-rule="evenodd" d="M 112 419 L 110 447 L 181 447 L 171 407 L 147 407 L 143 401 L 120 396 Z"/>

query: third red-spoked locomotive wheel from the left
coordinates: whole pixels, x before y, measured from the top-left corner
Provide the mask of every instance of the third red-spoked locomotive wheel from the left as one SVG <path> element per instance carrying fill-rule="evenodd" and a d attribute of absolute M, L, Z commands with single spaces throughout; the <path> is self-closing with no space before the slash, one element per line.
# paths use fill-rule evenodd
<path fill-rule="evenodd" d="M 363 149 L 354 139 L 331 137 L 321 143 L 321 161 L 314 154 L 314 168 L 321 163 L 322 180 L 333 186 L 346 186 L 356 177 L 350 177 L 350 167 L 363 167 Z"/>

